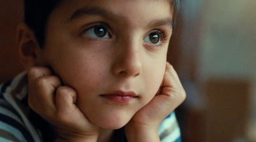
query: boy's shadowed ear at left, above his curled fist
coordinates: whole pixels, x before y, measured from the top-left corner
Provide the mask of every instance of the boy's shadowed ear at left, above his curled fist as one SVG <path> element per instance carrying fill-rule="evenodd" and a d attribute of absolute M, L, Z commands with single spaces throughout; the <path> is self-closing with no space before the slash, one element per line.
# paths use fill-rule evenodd
<path fill-rule="evenodd" d="M 19 58 L 21 64 L 26 68 L 37 65 L 36 50 L 40 46 L 35 38 L 34 32 L 26 24 L 19 24 L 17 27 L 17 44 L 19 48 Z"/>

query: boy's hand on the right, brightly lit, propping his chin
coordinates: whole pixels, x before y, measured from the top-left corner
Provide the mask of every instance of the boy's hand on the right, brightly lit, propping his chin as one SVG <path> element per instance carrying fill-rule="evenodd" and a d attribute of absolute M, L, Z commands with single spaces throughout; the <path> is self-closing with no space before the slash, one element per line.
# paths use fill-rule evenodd
<path fill-rule="evenodd" d="M 179 76 L 172 65 L 166 62 L 163 82 L 156 96 L 125 125 L 127 139 L 129 141 L 160 141 L 157 135 L 159 125 L 185 98 L 186 92 L 180 83 Z"/>

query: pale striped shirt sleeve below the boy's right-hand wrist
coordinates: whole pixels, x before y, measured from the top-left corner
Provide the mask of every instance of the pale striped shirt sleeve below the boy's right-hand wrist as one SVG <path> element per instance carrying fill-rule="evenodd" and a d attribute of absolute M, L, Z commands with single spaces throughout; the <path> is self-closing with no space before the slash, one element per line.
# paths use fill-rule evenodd
<path fill-rule="evenodd" d="M 159 138 L 161 142 L 180 142 L 180 128 L 177 122 L 175 112 L 172 112 L 159 125 Z"/>

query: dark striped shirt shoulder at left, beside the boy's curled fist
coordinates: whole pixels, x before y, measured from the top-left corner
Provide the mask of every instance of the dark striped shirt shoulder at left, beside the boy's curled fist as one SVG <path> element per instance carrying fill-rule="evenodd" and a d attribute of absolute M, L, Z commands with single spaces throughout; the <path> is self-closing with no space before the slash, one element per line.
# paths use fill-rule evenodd
<path fill-rule="evenodd" d="M 22 111 L 21 100 L 26 96 L 20 93 L 24 91 L 23 78 L 18 76 L 0 85 L 0 141 L 35 141 Z"/>

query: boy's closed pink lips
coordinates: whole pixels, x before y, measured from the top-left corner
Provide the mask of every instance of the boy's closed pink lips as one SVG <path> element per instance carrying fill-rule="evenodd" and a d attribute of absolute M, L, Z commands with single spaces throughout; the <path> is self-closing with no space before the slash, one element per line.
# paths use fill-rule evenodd
<path fill-rule="evenodd" d="M 129 103 L 130 101 L 138 97 L 138 95 L 132 91 L 125 92 L 122 90 L 116 90 L 108 94 L 102 94 L 100 95 L 100 97 L 116 103 Z"/>

